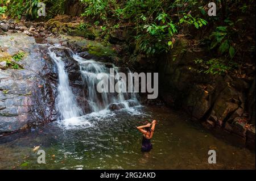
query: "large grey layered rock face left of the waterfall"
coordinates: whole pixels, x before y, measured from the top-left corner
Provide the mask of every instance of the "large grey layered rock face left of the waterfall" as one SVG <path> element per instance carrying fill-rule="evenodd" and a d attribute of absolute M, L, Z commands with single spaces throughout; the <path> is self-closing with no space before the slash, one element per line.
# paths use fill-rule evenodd
<path fill-rule="evenodd" d="M 56 75 L 34 37 L 7 33 L 0 39 L 0 133 L 16 132 L 56 119 Z M 14 54 L 24 52 L 22 60 Z M 8 61 L 20 65 L 14 69 Z"/>

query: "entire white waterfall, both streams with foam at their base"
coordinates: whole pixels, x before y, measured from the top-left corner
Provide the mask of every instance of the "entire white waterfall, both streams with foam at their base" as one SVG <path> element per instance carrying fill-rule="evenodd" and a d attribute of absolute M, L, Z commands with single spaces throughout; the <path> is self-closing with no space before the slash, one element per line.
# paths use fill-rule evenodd
<path fill-rule="evenodd" d="M 130 108 L 130 104 L 133 106 L 140 105 L 134 92 L 99 93 L 97 91 L 97 84 L 100 82 L 100 80 L 97 79 L 97 74 L 109 74 L 109 68 L 107 68 L 104 63 L 94 60 L 86 60 L 80 57 L 78 54 L 73 53 L 71 49 L 61 47 L 60 45 L 40 45 L 49 46 L 49 56 L 57 65 L 59 84 L 55 104 L 56 110 L 60 115 L 60 123 L 61 125 L 64 125 L 65 128 L 90 127 L 92 123 L 90 123 L 89 120 L 97 120 L 102 119 L 102 117 L 113 116 L 113 112 L 109 110 L 110 104 L 118 104 L 118 106 L 121 106 L 121 108 L 125 108 L 125 110 L 129 110 L 131 112 L 134 110 Z M 87 90 L 87 95 L 85 96 L 90 106 L 90 113 L 84 115 L 82 109 L 78 106 L 76 96 L 73 94 L 72 89 L 69 86 L 68 73 L 65 71 L 65 64 L 61 60 L 61 57 L 56 55 L 55 49 L 68 50 L 74 60 L 79 62 L 82 81 L 84 82 Z M 116 68 L 114 65 L 112 65 L 112 67 L 115 70 L 115 74 L 118 74 L 118 68 Z M 130 70 L 127 69 L 127 72 L 130 72 Z M 134 86 L 130 86 L 132 86 L 130 88 L 133 90 Z"/>

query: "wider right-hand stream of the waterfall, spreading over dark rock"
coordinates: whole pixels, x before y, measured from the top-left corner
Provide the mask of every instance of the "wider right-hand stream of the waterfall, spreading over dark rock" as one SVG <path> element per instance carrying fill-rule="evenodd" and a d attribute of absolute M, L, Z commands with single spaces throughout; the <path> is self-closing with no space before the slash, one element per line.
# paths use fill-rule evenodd
<path fill-rule="evenodd" d="M 90 108 L 92 109 L 92 112 L 98 112 L 101 110 L 107 109 L 110 104 L 118 104 L 118 106 L 121 106 L 122 108 L 129 109 L 129 101 L 132 99 L 132 101 L 135 104 L 139 104 L 135 93 L 127 93 L 127 92 L 97 92 L 97 83 L 100 82 L 100 80 L 97 79 L 97 74 L 99 73 L 106 73 L 109 74 L 110 69 L 106 67 L 106 65 L 102 62 L 97 62 L 94 60 L 86 60 L 82 57 L 80 57 L 78 54 L 73 54 L 73 58 L 79 62 L 80 65 L 80 71 L 82 80 L 84 82 L 84 85 L 86 86 L 86 89 L 88 90 L 88 95 L 86 98 L 89 101 Z M 118 68 L 115 67 L 113 64 L 112 68 L 114 69 L 114 74 L 118 75 Z M 129 69 L 128 69 L 129 70 Z M 130 70 L 129 70 L 130 71 Z M 108 82 L 111 84 L 112 81 L 110 81 L 109 77 Z M 112 77 L 114 78 L 114 77 Z M 126 83 L 123 80 L 121 80 L 122 83 Z M 114 85 L 110 85 L 114 87 Z M 133 104 L 134 104 L 133 103 Z"/>

